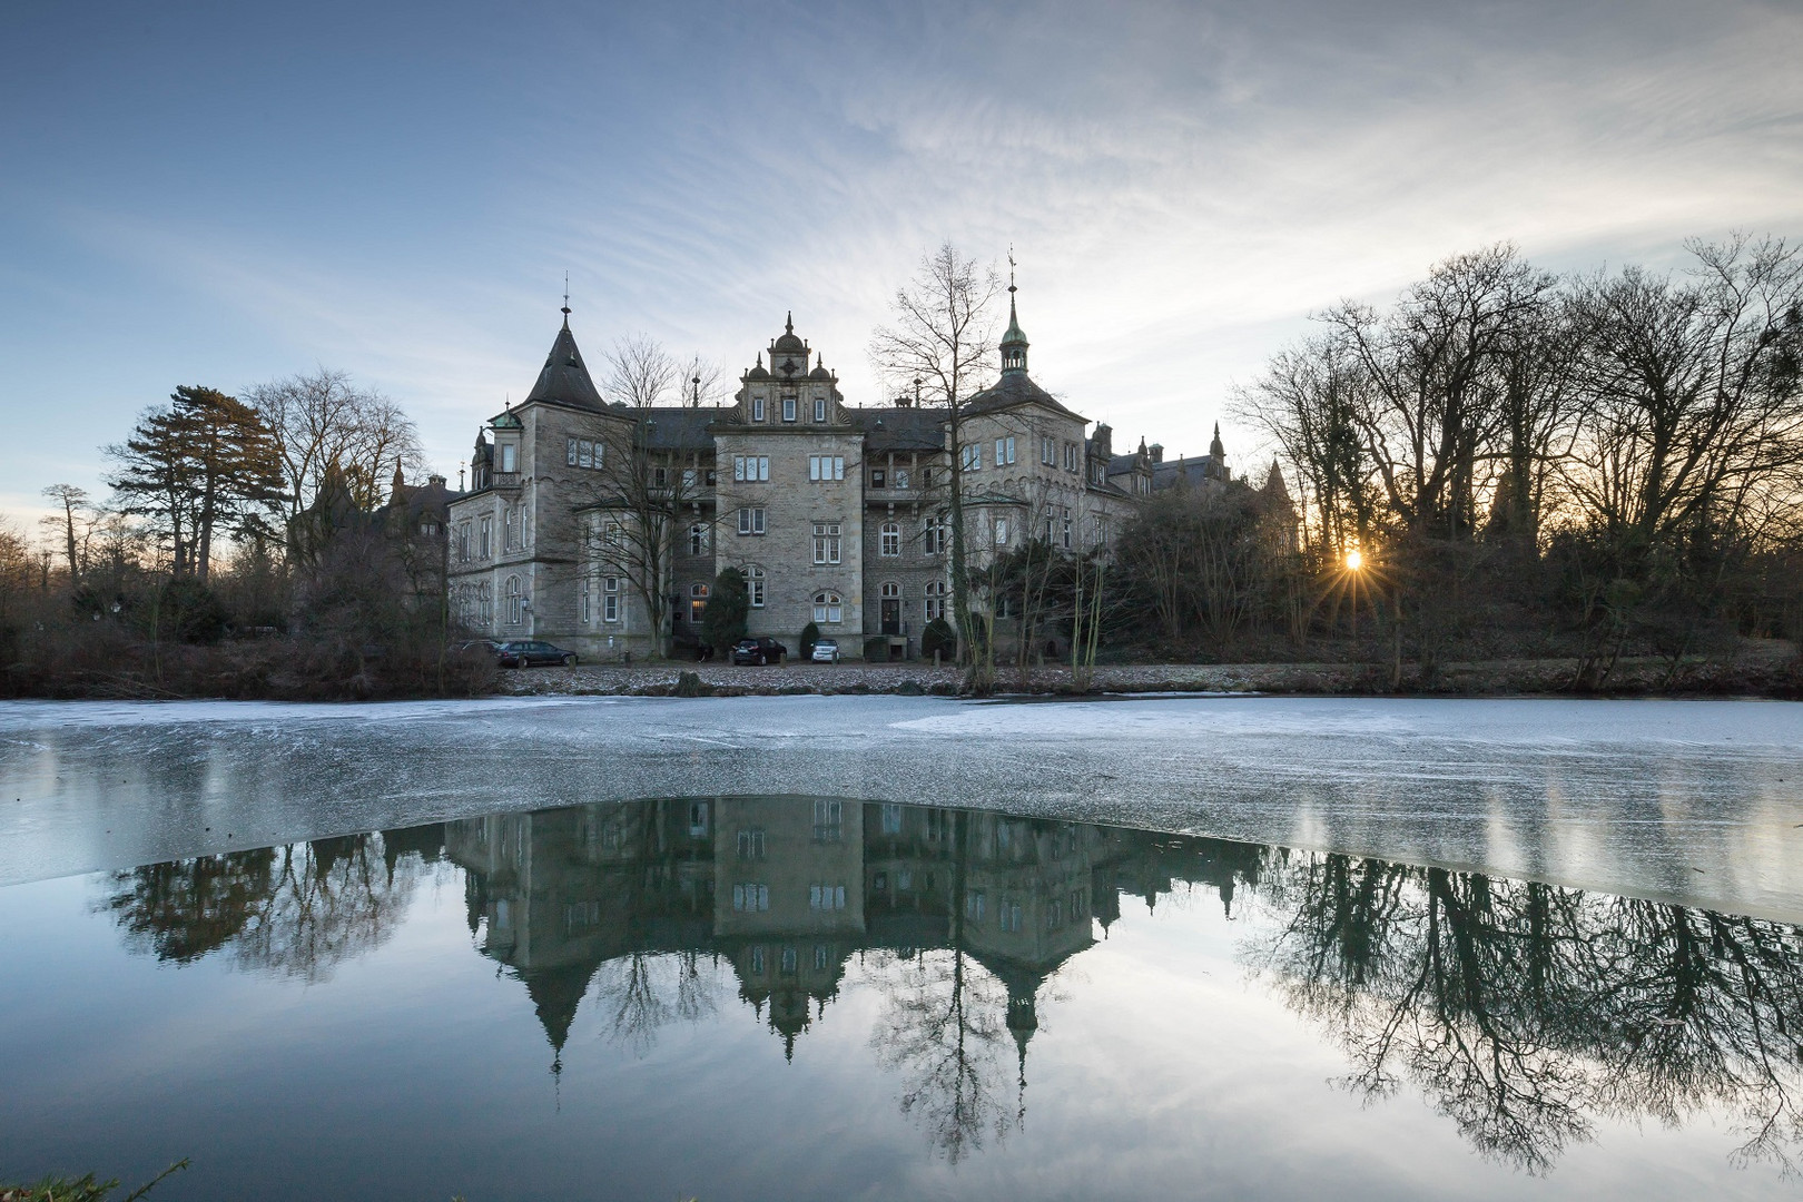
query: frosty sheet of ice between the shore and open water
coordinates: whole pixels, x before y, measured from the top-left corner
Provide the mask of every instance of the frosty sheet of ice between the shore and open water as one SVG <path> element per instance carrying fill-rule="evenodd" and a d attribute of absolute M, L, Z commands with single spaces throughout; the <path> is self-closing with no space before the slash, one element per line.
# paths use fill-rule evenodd
<path fill-rule="evenodd" d="M 1803 921 L 1803 705 L 1147 697 L 0 705 L 0 883 L 597 800 L 833 795 Z"/>

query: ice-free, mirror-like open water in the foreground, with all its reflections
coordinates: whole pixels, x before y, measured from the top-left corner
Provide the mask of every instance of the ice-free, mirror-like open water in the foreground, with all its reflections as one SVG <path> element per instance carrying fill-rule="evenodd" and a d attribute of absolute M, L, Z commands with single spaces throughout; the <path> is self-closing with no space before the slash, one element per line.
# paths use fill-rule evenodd
<path fill-rule="evenodd" d="M 0 890 L 0 1170 L 171 1198 L 1751 1198 L 1799 1135 L 1736 1152 L 1794 928 L 997 813 L 247 849 Z"/>

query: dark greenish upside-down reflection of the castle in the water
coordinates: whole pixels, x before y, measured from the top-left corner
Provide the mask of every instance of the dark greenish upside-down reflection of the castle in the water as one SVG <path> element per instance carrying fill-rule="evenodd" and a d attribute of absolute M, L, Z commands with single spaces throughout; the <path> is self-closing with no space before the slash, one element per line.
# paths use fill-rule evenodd
<path fill-rule="evenodd" d="M 1217 885 L 1262 849 L 997 813 L 840 798 L 595 804 L 445 824 L 467 870 L 471 928 L 512 966 L 563 1049 L 597 970 L 709 953 L 793 1052 L 865 950 L 957 948 L 1008 989 L 1020 1056 L 1042 982 L 1120 917 L 1156 903 L 1176 865 Z M 1201 854 L 1197 854 L 1201 852 Z"/>

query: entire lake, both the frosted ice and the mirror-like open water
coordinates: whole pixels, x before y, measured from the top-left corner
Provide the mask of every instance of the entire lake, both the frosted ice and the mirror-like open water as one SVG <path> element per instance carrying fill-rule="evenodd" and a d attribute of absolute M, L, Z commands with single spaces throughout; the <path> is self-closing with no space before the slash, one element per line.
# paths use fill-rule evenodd
<path fill-rule="evenodd" d="M 1798 705 L 16 703 L 0 782 L 0 1179 L 1646 1202 L 1803 1157 Z"/>

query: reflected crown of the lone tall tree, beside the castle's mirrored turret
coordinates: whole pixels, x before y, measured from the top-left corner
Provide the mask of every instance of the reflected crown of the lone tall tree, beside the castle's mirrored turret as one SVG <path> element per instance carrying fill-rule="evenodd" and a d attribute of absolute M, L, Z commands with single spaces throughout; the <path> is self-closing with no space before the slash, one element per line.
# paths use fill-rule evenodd
<path fill-rule="evenodd" d="M 902 1114 L 918 1119 L 952 1164 L 981 1152 L 986 1134 L 1004 1137 L 1019 1121 L 1008 1103 L 1019 1099 L 1006 1097 L 1001 980 L 963 948 L 878 952 L 869 964 L 883 995 L 871 1047 L 885 1069 L 903 1072 Z"/>

